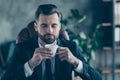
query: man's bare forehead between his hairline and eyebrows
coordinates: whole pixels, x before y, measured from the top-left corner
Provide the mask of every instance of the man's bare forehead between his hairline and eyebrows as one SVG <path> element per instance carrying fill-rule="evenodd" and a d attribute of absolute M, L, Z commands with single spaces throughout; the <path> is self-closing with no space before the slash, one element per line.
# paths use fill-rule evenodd
<path fill-rule="evenodd" d="M 39 15 L 39 22 L 45 22 L 45 23 L 51 23 L 51 22 L 60 22 L 60 18 L 56 13 L 51 14 L 51 15 L 44 15 L 40 14 Z"/>

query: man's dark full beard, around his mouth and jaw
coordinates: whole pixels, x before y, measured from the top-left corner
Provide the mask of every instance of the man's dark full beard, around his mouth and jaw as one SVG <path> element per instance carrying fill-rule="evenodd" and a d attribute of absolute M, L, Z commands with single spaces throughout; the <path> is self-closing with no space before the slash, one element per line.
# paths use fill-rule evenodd
<path fill-rule="evenodd" d="M 38 33 L 38 37 L 46 44 L 51 44 L 57 39 L 57 37 L 54 34 L 50 34 L 50 33 L 46 33 L 44 35 Z"/>

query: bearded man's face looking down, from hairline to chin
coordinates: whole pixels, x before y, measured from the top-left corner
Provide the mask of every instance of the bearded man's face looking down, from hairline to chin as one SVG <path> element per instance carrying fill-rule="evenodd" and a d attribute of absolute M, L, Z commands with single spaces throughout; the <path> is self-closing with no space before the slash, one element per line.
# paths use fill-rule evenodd
<path fill-rule="evenodd" d="M 60 19 L 56 13 L 51 15 L 40 14 L 35 23 L 38 37 L 46 44 L 51 44 L 58 38 L 60 28 Z"/>

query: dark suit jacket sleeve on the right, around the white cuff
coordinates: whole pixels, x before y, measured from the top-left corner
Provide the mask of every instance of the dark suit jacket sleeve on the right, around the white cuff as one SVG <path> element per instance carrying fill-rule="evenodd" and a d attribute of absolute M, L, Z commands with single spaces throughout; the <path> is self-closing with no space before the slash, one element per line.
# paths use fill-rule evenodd
<path fill-rule="evenodd" d="M 83 80 L 102 80 L 101 78 L 101 74 L 93 69 L 87 62 L 86 60 L 84 59 L 83 55 L 82 55 L 82 51 L 81 49 L 76 45 L 74 44 L 76 51 L 74 53 L 74 55 L 80 59 L 83 63 L 83 70 L 78 73 L 75 71 L 76 74 L 78 74 Z"/>

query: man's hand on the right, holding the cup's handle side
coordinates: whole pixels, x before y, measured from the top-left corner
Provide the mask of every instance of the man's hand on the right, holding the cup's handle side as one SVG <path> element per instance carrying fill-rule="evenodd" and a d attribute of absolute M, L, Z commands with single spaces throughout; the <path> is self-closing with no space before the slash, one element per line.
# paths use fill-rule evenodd
<path fill-rule="evenodd" d="M 79 60 L 72 54 L 72 52 L 67 47 L 59 47 L 58 48 L 59 58 L 64 61 L 68 61 L 73 64 L 74 68 L 76 68 L 79 64 Z"/>

